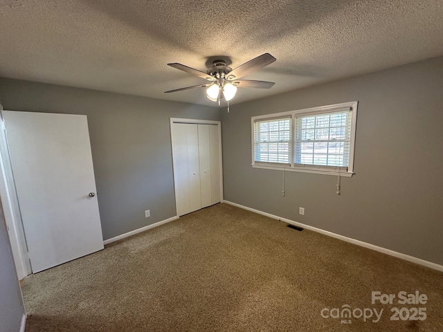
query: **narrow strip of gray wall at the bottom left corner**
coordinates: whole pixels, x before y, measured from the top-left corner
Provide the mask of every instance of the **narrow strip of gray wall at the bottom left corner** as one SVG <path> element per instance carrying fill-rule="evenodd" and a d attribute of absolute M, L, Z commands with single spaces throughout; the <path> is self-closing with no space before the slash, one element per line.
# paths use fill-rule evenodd
<path fill-rule="evenodd" d="M 0 203 L 0 331 L 20 331 L 21 318 L 24 313 L 3 208 Z"/>

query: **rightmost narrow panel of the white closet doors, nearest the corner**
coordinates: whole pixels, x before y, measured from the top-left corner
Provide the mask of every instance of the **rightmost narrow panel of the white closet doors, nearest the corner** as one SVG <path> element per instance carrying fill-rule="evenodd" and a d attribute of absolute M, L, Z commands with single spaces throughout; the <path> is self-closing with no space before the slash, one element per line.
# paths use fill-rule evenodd
<path fill-rule="evenodd" d="M 220 155 L 218 126 L 208 126 L 211 205 L 220 202 Z"/>

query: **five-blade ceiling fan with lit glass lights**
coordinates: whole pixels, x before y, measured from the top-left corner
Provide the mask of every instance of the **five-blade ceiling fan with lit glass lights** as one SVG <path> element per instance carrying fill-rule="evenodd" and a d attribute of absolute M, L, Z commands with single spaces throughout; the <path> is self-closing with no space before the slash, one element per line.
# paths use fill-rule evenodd
<path fill-rule="evenodd" d="M 187 86 L 186 88 L 174 89 L 170 91 L 165 91 L 165 93 L 183 91 L 195 88 L 208 88 L 206 89 L 206 96 L 213 102 L 219 102 L 220 99 L 224 98 L 227 101 L 234 98 L 237 92 L 237 86 L 240 88 L 257 88 L 257 89 L 270 89 L 275 83 L 266 81 L 254 81 L 254 80 L 239 80 L 240 77 L 246 76 L 254 71 L 257 71 L 264 66 L 275 61 L 275 57 L 269 53 L 264 53 L 258 57 L 255 57 L 244 64 L 241 64 L 235 69 L 230 68 L 226 65 L 225 60 L 215 60 L 213 61 L 213 66 L 203 71 L 198 71 L 197 69 L 185 66 L 184 64 L 168 64 L 172 68 L 177 68 L 180 71 L 185 71 L 192 75 L 204 78 L 210 81 L 210 83 L 199 84 L 194 86 Z"/>

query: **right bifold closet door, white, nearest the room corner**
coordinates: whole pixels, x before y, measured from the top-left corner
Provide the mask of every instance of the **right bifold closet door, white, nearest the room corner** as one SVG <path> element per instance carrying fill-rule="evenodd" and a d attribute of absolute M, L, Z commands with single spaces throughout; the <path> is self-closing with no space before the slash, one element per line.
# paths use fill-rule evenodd
<path fill-rule="evenodd" d="M 197 124 L 199 133 L 199 163 L 201 208 L 220 201 L 219 133 L 213 124 Z"/>

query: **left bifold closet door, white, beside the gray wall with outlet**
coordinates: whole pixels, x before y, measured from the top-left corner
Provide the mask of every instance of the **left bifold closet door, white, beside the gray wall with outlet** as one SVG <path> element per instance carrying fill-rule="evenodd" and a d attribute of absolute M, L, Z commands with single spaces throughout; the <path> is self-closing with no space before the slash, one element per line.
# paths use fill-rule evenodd
<path fill-rule="evenodd" d="M 199 135 L 196 124 L 172 124 L 172 158 L 177 214 L 201 209 Z"/>

